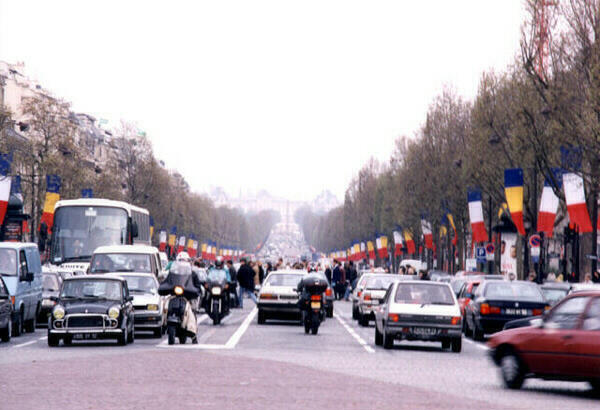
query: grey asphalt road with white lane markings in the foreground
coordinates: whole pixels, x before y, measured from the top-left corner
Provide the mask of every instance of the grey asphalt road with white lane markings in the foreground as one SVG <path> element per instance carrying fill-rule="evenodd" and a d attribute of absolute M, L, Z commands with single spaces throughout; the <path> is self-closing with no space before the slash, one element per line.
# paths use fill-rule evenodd
<path fill-rule="evenodd" d="M 374 344 L 350 304 L 317 336 L 293 322 L 258 325 L 248 301 L 220 326 L 199 316 L 199 345 L 74 342 L 49 348 L 45 329 L 0 343 L 0 409 L 597 409 L 585 383 L 527 380 L 502 387 L 483 344 L 460 354 L 439 343 Z M 459 407 L 460 406 L 460 407 Z"/>

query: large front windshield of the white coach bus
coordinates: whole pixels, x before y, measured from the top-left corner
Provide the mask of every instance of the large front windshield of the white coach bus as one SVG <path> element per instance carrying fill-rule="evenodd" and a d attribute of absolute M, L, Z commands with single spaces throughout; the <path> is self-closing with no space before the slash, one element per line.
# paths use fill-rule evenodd
<path fill-rule="evenodd" d="M 127 211 L 122 208 L 57 208 L 52 227 L 52 262 L 89 261 L 99 246 L 127 244 L 127 221 Z"/>

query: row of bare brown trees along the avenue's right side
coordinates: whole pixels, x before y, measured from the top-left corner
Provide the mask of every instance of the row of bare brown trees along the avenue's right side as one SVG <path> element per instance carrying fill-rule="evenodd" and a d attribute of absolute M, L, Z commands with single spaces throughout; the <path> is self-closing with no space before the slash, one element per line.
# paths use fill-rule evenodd
<path fill-rule="evenodd" d="M 345 249 L 352 240 L 372 238 L 377 231 L 391 235 L 396 224 L 418 239 L 424 213 L 437 248 L 449 248 L 450 241 L 438 234 L 447 207 L 462 256 L 470 234 L 468 188 L 481 189 L 484 215 L 493 215 L 496 223 L 497 210 L 506 200 L 504 170 L 523 168 L 523 214 L 529 235 L 535 231 L 544 178 L 552 168 L 562 167 L 584 177 L 593 233 L 582 238 L 581 253 L 596 255 L 592 244 L 600 179 L 600 1 L 571 0 L 547 8 L 549 51 L 538 41 L 541 3 L 527 3 L 529 20 L 523 24 L 515 62 L 502 72 L 484 73 L 473 101 L 444 89 L 416 135 L 396 140 L 389 163 L 371 160 L 358 172 L 343 206 L 323 216 L 307 209 L 297 214 L 309 242 L 322 251 Z M 539 53 L 544 53 L 543 66 L 536 64 Z M 580 164 L 561 161 L 561 147 L 579 150 Z M 556 189 L 556 194 L 561 199 L 558 225 L 564 224 L 567 213 L 564 193 Z"/>

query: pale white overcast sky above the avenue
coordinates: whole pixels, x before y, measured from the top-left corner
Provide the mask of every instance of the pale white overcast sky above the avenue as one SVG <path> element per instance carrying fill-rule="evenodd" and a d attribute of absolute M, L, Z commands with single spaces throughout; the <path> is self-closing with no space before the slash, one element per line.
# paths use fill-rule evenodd
<path fill-rule="evenodd" d="M 146 131 L 193 190 L 343 199 L 444 86 L 519 50 L 522 0 L 0 0 L 0 60 Z"/>

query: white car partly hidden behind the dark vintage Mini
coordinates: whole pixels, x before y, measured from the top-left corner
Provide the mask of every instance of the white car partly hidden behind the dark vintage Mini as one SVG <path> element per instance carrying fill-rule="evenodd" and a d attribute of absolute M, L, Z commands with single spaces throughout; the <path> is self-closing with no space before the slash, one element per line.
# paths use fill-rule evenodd
<path fill-rule="evenodd" d="M 111 274 L 116 275 L 116 274 Z M 166 325 L 163 298 L 158 294 L 158 280 L 151 273 L 120 273 L 127 281 L 129 294 L 133 296 L 135 330 L 151 331 L 161 337 Z"/>

